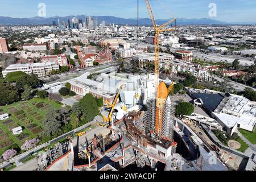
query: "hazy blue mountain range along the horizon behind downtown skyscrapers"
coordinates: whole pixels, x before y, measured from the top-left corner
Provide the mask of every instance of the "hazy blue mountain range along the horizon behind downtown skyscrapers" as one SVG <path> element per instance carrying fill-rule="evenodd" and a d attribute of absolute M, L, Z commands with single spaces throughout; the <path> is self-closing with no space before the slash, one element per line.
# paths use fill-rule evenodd
<path fill-rule="evenodd" d="M 11 18 L 8 16 L 0 16 L 0 25 L 28 25 L 28 24 L 52 24 L 53 21 L 57 23 L 57 19 L 60 19 L 60 22 L 68 22 L 68 20 L 71 20 L 74 16 L 53 16 L 49 18 L 43 18 L 39 16 L 35 16 L 33 18 Z M 115 16 L 91 16 L 92 18 L 97 18 L 98 23 L 100 24 L 102 20 L 105 20 L 105 24 L 129 24 L 129 25 L 137 25 L 137 18 L 118 18 Z M 83 22 L 85 20 L 85 15 L 78 15 L 76 16 L 78 19 L 82 19 Z M 164 24 L 168 20 L 164 19 L 157 19 L 157 24 Z M 151 25 L 151 19 L 150 18 L 139 18 L 139 25 Z M 193 25 L 193 24 L 231 24 L 227 22 L 221 22 L 218 20 L 210 19 L 210 18 L 194 18 L 194 19 L 187 19 L 187 18 L 177 18 L 177 25 Z M 253 23 L 232 23 L 232 24 L 253 24 Z"/>

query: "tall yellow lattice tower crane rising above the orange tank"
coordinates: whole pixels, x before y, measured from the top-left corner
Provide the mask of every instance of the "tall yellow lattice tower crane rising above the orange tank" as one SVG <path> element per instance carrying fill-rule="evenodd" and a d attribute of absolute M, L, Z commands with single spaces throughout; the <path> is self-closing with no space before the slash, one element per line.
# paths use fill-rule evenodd
<path fill-rule="evenodd" d="M 164 28 L 172 22 L 175 22 L 175 26 L 176 26 L 176 19 L 173 18 L 170 21 L 168 21 L 167 23 L 164 23 L 161 26 L 157 26 L 156 23 L 155 23 L 155 18 L 154 18 L 153 11 L 152 11 L 151 6 L 150 6 L 150 2 L 149 2 L 149 0 L 145 0 L 145 2 L 146 2 L 148 13 L 150 15 L 150 19 L 152 20 L 153 27 L 155 28 L 155 93 L 156 93 L 157 90 L 158 90 L 158 84 L 159 84 L 159 34 L 161 32 L 165 32 L 165 31 L 174 31 L 174 30 L 176 30 L 176 27 L 171 28 L 171 29 L 165 29 Z"/>

